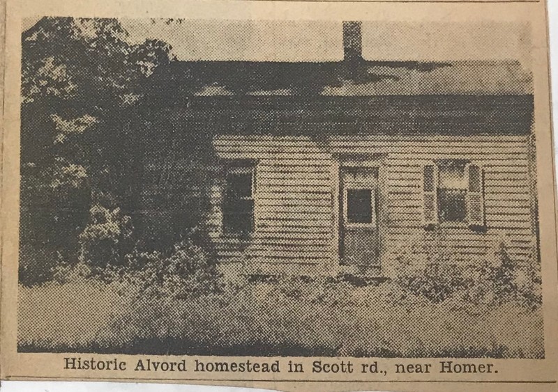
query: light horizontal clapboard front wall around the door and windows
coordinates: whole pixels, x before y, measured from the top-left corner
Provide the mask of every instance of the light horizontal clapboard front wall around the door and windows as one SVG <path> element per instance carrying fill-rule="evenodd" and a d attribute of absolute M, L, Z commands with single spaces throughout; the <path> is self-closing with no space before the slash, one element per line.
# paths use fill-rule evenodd
<path fill-rule="evenodd" d="M 257 162 L 251 240 L 223 235 L 223 178 L 216 178 L 211 189 L 207 224 L 223 265 L 262 273 L 337 272 L 340 160 L 363 155 L 382 165 L 382 274 L 395 274 L 397 260 L 405 257 L 431 262 L 442 254 L 452 264 L 475 265 L 504 242 L 516 262 L 526 262 L 534 248 L 529 135 L 220 135 L 213 146 L 221 159 Z M 483 167 L 484 232 L 443 225 L 425 230 L 422 165 L 433 159 L 470 159 Z"/>

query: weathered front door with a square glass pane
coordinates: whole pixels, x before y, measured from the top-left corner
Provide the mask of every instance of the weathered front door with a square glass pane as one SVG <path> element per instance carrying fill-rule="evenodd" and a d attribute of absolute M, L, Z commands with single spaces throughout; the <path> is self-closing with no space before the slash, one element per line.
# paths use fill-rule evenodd
<path fill-rule="evenodd" d="M 378 169 L 345 167 L 340 172 L 341 264 L 379 265 Z"/>

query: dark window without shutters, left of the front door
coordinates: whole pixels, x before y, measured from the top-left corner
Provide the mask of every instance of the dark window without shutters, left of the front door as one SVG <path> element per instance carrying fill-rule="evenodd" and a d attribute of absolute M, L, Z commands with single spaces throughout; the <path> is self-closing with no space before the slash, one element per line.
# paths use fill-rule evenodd
<path fill-rule="evenodd" d="M 223 232 L 248 235 L 254 230 L 254 168 L 232 167 L 223 198 Z"/>

